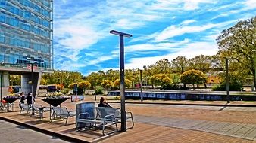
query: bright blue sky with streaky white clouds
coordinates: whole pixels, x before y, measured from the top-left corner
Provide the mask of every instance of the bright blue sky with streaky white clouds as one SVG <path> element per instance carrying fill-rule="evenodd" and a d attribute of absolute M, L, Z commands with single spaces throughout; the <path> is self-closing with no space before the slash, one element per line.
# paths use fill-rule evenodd
<path fill-rule="evenodd" d="M 119 68 L 119 38 L 125 39 L 125 68 L 160 59 L 217 53 L 223 29 L 256 15 L 255 0 L 58 0 L 54 1 L 55 69 Z"/>

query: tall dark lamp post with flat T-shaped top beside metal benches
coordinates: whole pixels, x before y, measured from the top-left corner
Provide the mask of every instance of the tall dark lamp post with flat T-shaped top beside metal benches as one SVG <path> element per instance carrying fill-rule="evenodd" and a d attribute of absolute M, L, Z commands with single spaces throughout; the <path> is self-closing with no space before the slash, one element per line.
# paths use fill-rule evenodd
<path fill-rule="evenodd" d="M 126 132 L 126 111 L 125 111 L 125 96 L 124 96 L 124 50 L 123 37 L 130 38 L 133 35 L 115 30 L 110 31 L 111 34 L 119 35 L 120 42 L 120 96 L 121 96 L 121 132 Z"/>

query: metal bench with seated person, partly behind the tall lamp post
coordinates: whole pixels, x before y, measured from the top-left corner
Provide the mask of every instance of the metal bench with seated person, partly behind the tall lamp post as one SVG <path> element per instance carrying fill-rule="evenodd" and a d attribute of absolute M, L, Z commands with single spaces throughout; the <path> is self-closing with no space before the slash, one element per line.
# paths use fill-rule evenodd
<path fill-rule="evenodd" d="M 111 108 L 104 108 L 104 107 L 98 107 L 96 108 L 96 111 L 97 111 L 97 116 L 99 116 L 100 114 L 105 114 L 104 110 L 109 110 Z M 116 117 L 116 120 L 117 120 L 117 123 L 121 123 L 121 109 L 120 108 L 117 108 L 117 111 L 114 113 L 115 114 L 115 117 Z M 131 120 L 132 122 L 132 126 L 130 126 L 129 128 L 127 129 L 133 129 L 134 127 L 134 121 L 133 121 L 133 113 L 132 112 L 127 112 L 126 111 L 126 121 L 127 120 Z"/>

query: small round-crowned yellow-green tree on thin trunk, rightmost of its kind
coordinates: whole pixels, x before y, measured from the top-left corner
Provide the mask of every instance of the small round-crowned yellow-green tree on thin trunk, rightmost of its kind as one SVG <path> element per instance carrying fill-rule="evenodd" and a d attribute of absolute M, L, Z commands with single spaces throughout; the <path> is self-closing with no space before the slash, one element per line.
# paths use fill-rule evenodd
<path fill-rule="evenodd" d="M 207 76 L 202 72 L 195 69 L 185 71 L 180 75 L 180 81 L 183 84 L 192 84 L 193 90 L 195 90 L 195 84 L 204 84 L 207 80 Z"/>

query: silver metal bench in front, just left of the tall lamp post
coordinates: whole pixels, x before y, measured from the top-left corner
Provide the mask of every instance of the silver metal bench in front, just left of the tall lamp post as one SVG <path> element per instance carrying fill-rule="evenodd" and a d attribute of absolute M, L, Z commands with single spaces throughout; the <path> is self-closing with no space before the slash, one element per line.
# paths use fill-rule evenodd
<path fill-rule="evenodd" d="M 78 128 L 78 123 L 86 123 L 86 126 L 83 129 L 95 129 L 98 127 L 102 128 L 102 134 L 108 135 L 113 132 L 117 132 L 117 120 L 116 120 L 116 114 L 118 112 L 118 109 L 116 108 L 98 108 L 97 110 L 97 116 L 96 117 L 90 117 L 89 113 L 81 113 L 78 115 L 76 119 L 76 129 L 80 130 Z M 108 134 L 105 134 L 105 128 L 107 126 L 115 126 L 115 129 L 113 132 L 108 132 Z"/>

